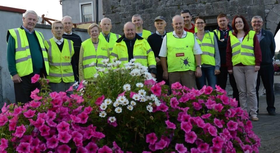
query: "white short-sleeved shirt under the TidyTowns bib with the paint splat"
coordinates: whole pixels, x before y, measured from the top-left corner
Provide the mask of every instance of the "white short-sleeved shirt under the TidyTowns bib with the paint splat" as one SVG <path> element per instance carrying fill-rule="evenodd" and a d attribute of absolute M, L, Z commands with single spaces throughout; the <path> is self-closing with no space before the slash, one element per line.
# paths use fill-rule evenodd
<path fill-rule="evenodd" d="M 172 34 L 173 34 L 174 37 L 180 38 L 180 37 L 175 33 L 175 31 L 173 31 Z M 193 35 L 193 34 L 192 34 L 192 35 Z M 159 53 L 159 55 L 158 55 L 158 56 L 160 56 L 160 57 L 167 57 L 167 45 L 166 45 L 167 41 L 166 41 L 166 36 L 167 36 L 167 35 L 165 35 L 164 38 L 163 38 L 163 40 L 162 40 L 162 45 L 161 45 L 161 48 L 160 48 L 160 53 Z M 182 36 L 181 38 L 185 38 L 186 36 L 187 36 L 187 31 L 184 31 L 184 32 L 183 32 L 183 36 Z M 195 40 L 195 44 L 193 45 L 193 48 L 192 48 L 193 54 L 194 54 L 194 55 L 202 54 L 202 51 L 201 51 L 201 49 L 200 49 L 200 47 L 199 47 L 199 45 L 198 45 L 198 43 L 197 43 L 197 41 L 196 41 L 194 35 L 193 35 L 193 38 L 194 38 L 194 40 Z"/>

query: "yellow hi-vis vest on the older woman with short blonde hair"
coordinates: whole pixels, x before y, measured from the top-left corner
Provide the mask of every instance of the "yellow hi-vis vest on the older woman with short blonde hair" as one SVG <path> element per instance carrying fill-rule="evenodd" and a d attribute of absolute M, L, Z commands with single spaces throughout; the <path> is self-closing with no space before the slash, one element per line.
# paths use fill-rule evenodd
<path fill-rule="evenodd" d="M 103 35 L 102 35 L 103 37 Z M 113 35 L 110 35 L 110 40 Z M 91 39 L 87 39 L 82 43 L 82 47 L 84 49 L 83 54 L 83 73 L 85 79 L 93 78 L 93 75 L 97 72 L 97 67 L 104 67 L 102 60 L 108 59 L 108 52 L 107 49 L 109 47 L 109 43 L 105 40 L 105 38 L 99 39 L 99 44 L 97 50 L 91 41 Z"/>

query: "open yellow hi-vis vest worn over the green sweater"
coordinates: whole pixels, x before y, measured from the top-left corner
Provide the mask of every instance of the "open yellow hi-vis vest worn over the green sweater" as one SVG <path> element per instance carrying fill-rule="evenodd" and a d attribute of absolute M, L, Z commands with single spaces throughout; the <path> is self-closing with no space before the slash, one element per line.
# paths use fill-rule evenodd
<path fill-rule="evenodd" d="M 31 53 L 29 48 L 29 42 L 24 29 L 16 28 L 8 30 L 10 35 L 15 39 L 15 66 L 17 73 L 20 77 L 29 75 L 33 72 L 33 64 L 31 59 Z M 49 73 L 48 55 L 44 46 L 43 35 L 34 31 L 36 35 L 39 46 L 42 50 L 44 66 L 47 74 Z"/>

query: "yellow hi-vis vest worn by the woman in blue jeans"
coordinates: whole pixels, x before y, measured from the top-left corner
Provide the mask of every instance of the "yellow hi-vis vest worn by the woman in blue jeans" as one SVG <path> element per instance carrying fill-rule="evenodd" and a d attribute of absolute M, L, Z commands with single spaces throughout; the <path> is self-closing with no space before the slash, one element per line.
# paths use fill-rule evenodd
<path fill-rule="evenodd" d="M 206 32 L 202 39 L 202 42 L 199 38 L 196 38 L 197 43 L 199 44 L 202 55 L 201 55 L 201 64 L 209 64 L 215 66 L 215 47 L 214 47 L 214 33 L 213 32 Z"/>

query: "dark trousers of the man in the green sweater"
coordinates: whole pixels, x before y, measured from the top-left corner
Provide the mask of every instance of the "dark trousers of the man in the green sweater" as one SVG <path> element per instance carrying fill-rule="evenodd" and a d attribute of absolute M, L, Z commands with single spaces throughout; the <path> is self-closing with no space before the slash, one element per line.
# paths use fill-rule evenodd
<path fill-rule="evenodd" d="M 15 102 L 27 103 L 32 101 L 30 95 L 31 92 L 36 88 L 41 89 L 40 83 L 31 83 L 31 78 L 34 76 L 33 73 L 20 77 L 22 82 L 14 83 L 15 88 Z"/>

